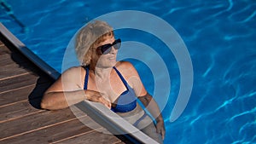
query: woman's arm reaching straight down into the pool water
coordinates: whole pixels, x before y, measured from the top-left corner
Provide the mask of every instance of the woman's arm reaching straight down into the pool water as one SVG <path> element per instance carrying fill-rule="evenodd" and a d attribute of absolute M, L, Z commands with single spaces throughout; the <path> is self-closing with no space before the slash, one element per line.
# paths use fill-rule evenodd
<path fill-rule="evenodd" d="M 166 130 L 164 120 L 160 113 L 160 108 L 158 107 L 154 98 L 148 94 L 147 90 L 144 88 L 144 85 L 137 73 L 137 70 L 130 62 L 123 61 L 121 69 L 124 71 L 126 78 L 128 78 L 128 83 L 131 85 L 132 89 L 134 90 L 135 94 L 142 101 L 144 107 L 148 109 L 151 115 L 154 117 L 156 121 L 156 130 L 158 133 L 162 135 L 164 139 Z"/>

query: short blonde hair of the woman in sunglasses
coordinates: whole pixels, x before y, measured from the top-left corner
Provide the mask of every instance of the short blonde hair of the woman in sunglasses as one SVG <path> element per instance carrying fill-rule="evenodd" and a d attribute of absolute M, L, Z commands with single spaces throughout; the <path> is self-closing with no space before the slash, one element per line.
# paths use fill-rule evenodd
<path fill-rule="evenodd" d="M 81 65 L 90 65 L 92 49 L 95 45 L 113 36 L 113 28 L 105 21 L 96 20 L 82 27 L 76 36 L 75 43 L 75 50 Z"/>

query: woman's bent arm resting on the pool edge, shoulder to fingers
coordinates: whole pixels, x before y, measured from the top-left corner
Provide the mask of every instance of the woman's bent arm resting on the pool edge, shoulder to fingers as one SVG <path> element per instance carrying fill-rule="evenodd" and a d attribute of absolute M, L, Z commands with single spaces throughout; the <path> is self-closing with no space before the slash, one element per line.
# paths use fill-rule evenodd
<path fill-rule="evenodd" d="M 99 92 L 82 89 L 84 83 L 81 83 L 81 77 L 84 75 L 81 67 L 73 67 L 63 72 L 61 77 L 45 91 L 41 108 L 57 110 L 84 100 L 101 102 L 106 107 L 111 107 L 110 102 L 104 99 Z"/>

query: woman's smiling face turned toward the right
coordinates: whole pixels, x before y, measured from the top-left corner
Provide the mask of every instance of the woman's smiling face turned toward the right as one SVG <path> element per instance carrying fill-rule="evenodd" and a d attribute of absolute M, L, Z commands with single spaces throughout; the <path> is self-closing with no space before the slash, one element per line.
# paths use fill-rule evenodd
<path fill-rule="evenodd" d="M 94 48 L 93 54 L 92 54 L 92 61 L 96 62 L 96 67 L 108 68 L 108 67 L 115 66 L 118 49 L 114 49 L 112 46 L 111 48 L 109 48 L 111 49 L 110 52 L 104 55 L 100 52 L 100 49 L 97 49 L 98 47 L 104 44 L 109 44 L 109 43 L 112 44 L 114 40 L 115 40 L 114 37 L 108 37 L 102 43 L 96 44 L 96 47 Z"/>

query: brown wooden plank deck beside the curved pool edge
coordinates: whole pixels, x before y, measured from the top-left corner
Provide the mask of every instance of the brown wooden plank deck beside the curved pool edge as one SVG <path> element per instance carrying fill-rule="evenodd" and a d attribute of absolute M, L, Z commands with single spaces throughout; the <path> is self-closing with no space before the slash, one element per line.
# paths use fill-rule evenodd
<path fill-rule="evenodd" d="M 91 130 L 69 109 L 38 109 L 49 78 L 3 37 L 0 39 L 0 143 L 130 143 Z M 90 118 L 86 115 L 83 118 Z M 102 129 L 102 128 L 99 128 Z M 118 136 L 118 137 L 117 137 Z"/>

